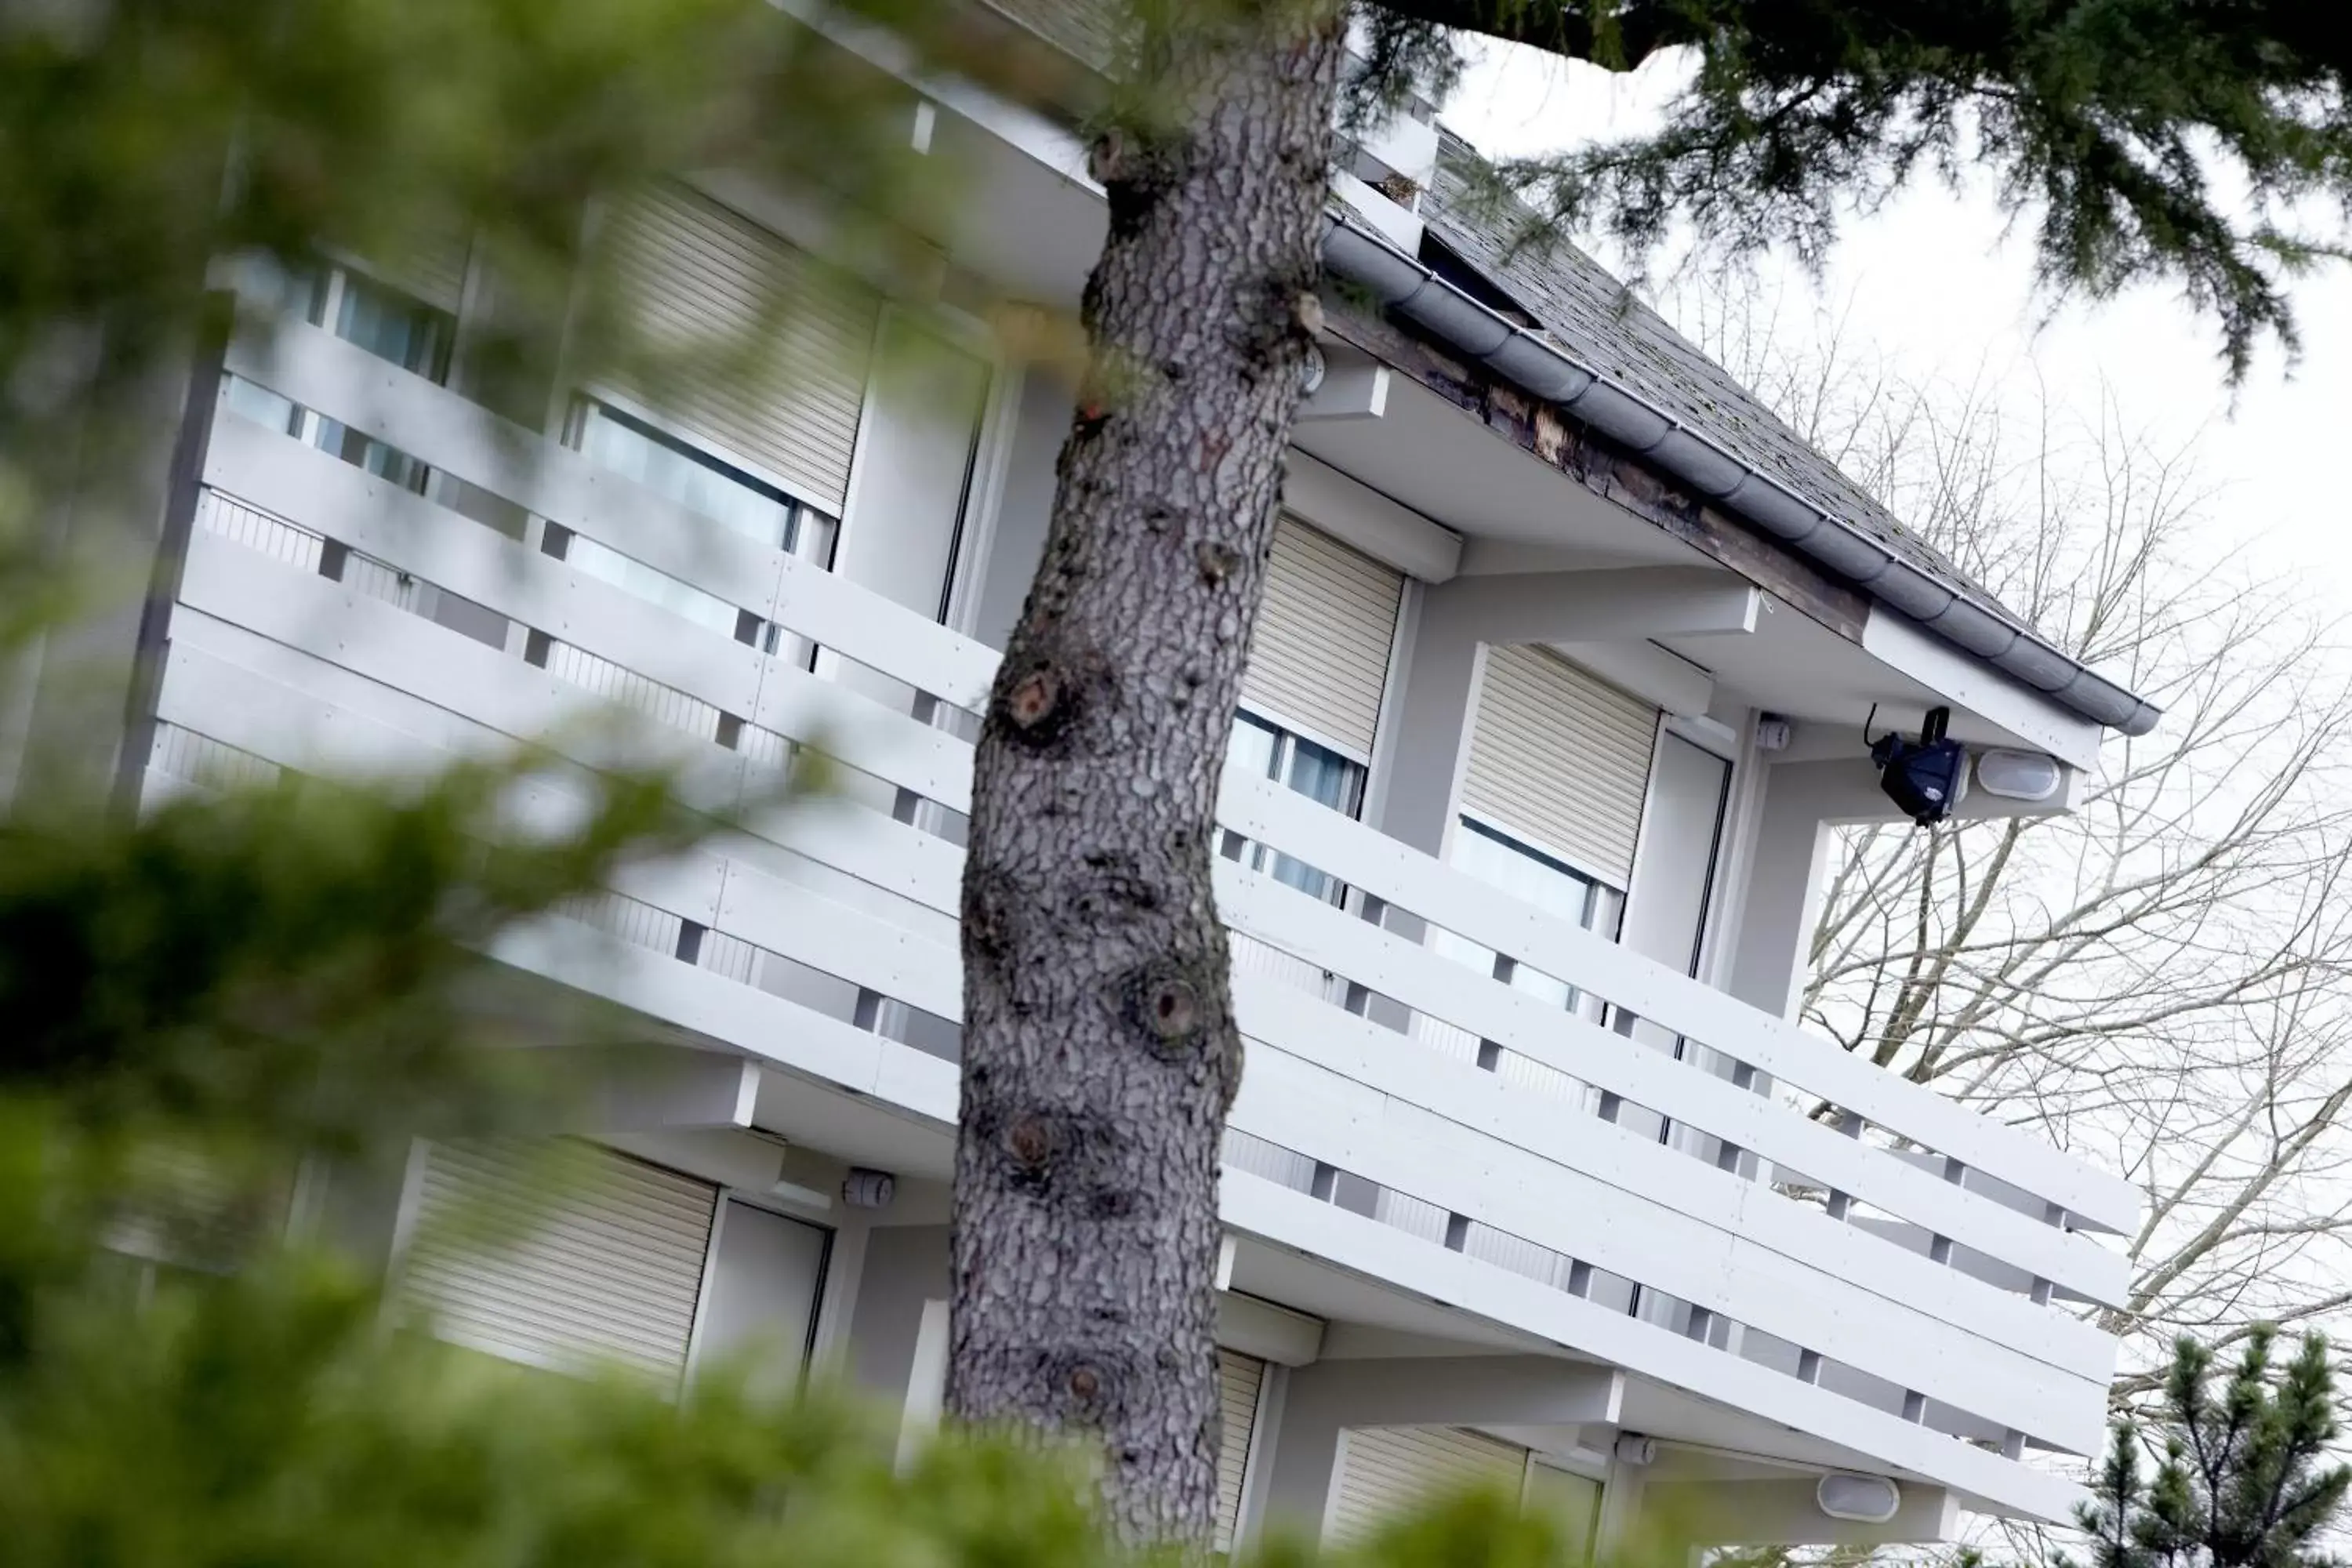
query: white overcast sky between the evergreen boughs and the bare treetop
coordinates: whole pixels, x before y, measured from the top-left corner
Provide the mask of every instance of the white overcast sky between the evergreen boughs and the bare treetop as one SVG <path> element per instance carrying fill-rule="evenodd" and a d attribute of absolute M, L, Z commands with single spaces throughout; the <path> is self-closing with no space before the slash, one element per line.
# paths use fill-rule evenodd
<path fill-rule="evenodd" d="M 1639 129 L 1672 87 L 1672 61 L 1658 63 L 1613 78 L 1486 45 L 1442 120 L 1489 155 Z M 1818 287 L 1778 261 L 1764 273 L 1785 301 L 1839 315 L 1849 341 L 1912 376 L 1973 381 L 1983 367 L 2032 395 L 2039 371 L 2051 400 L 2079 414 L 2112 388 L 2126 428 L 2164 444 L 2197 440 L 2197 473 L 2216 491 L 2209 527 L 2352 609 L 2352 270 L 2296 284 L 2303 360 L 2288 376 L 2284 355 L 2265 348 L 2234 409 L 2211 320 L 2159 289 L 2051 317 L 2032 289 L 2030 237 L 2004 242 L 2002 214 L 1980 193 L 1926 183 L 1856 219 Z"/>

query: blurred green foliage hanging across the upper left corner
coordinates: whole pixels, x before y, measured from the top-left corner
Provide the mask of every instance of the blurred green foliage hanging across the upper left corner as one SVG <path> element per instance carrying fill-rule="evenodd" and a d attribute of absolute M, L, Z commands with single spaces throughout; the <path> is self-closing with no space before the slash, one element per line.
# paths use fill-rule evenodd
<path fill-rule="evenodd" d="M 823 9 L 917 71 L 1021 96 L 1068 71 L 964 7 Z M 771 357 L 790 289 L 755 331 L 675 341 L 597 205 L 729 169 L 821 193 L 833 263 L 920 275 L 962 172 L 915 148 L 915 103 L 767 0 L 0 7 L 0 731 L 21 649 L 143 590 L 158 430 L 228 289 L 266 334 L 256 277 L 470 247 L 466 395 L 536 428 L 562 367 L 659 404 Z"/>

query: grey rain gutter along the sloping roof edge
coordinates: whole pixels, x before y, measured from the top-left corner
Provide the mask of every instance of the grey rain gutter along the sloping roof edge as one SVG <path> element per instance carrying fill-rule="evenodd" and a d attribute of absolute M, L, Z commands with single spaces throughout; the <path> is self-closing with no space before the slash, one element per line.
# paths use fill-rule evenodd
<path fill-rule="evenodd" d="M 1557 343 L 1489 310 L 1414 256 L 1348 221 L 1345 214 L 1327 209 L 1322 254 L 1324 266 L 1336 277 L 1367 289 L 1388 310 L 1423 327 L 1505 381 L 1571 409 L 1576 418 L 1602 435 L 1630 447 L 1708 501 L 1740 515 L 1837 576 L 1858 583 L 1872 599 L 1905 618 L 1931 628 L 1947 642 L 2107 729 L 2145 736 L 2157 726 L 2161 710 L 2060 654 L 2009 616 L 1938 583 L 1884 543 L 1839 522 L 1825 505 L 1724 451 L 1715 440 L 1578 362 Z"/>

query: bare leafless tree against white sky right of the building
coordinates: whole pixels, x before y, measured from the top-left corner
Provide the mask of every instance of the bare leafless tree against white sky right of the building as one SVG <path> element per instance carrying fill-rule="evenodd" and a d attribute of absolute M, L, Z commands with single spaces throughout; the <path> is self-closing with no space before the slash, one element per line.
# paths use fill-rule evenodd
<path fill-rule="evenodd" d="M 2119 1403 L 2185 1328 L 2227 1345 L 2352 1307 L 2336 628 L 2220 548 L 2192 451 L 2138 440 L 2112 397 L 2018 416 L 2018 376 L 1912 383 L 1835 317 L 1790 353 L 1738 284 L 1677 315 L 1929 543 L 2166 708 L 2072 816 L 1842 832 L 1806 1020 L 2140 1185 L 2129 1302 L 2103 1314 Z"/>

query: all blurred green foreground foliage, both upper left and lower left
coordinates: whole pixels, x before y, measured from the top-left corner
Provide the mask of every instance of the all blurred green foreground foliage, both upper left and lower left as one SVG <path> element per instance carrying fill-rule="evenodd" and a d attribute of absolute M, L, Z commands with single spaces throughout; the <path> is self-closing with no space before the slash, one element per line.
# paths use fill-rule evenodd
<path fill-rule="evenodd" d="M 967 75 L 1042 68 L 950 7 L 847 14 Z M 143 581 L 151 520 L 106 503 L 169 423 L 219 261 L 292 275 L 325 244 L 397 270 L 470 233 L 473 395 L 543 402 L 562 355 L 659 397 L 710 364 L 630 336 L 590 197 L 715 165 L 818 183 L 889 266 L 896 219 L 936 219 L 953 176 L 913 153 L 910 108 L 755 0 L 7 7 L 0 677 Z M 539 755 L 136 820 L 99 795 L 26 790 L 0 820 L 0 1563 L 1131 1559 L 1070 1450 L 953 1436 L 901 1472 L 894 1434 L 823 1392 L 508 1366 L 395 1326 L 383 1258 L 303 1225 L 315 1171 L 564 1126 L 583 1053 L 630 1030 L 487 952 L 724 816 Z M 1454 1507 L 1374 1561 L 1557 1559 L 1501 1500 Z"/>

